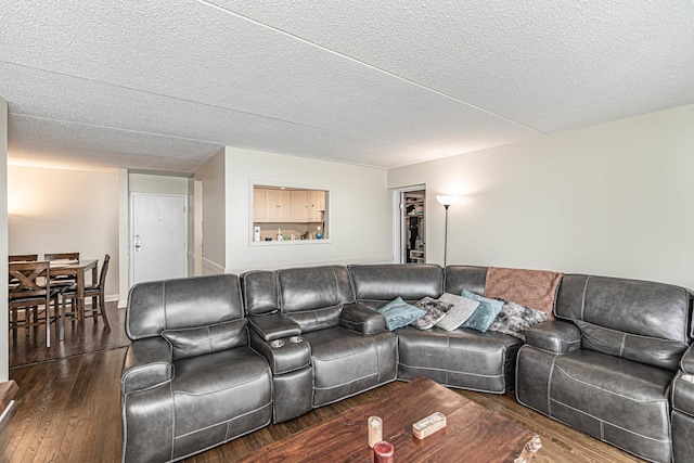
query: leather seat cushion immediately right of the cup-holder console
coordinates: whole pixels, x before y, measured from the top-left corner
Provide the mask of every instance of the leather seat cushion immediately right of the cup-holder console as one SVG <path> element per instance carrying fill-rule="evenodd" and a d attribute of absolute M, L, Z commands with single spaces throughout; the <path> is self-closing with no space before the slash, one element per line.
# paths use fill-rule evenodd
<path fill-rule="evenodd" d="M 305 333 L 311 346 L 313 407 L 324 406 L 395 380 L 396 337 L 340 326 Z"/>

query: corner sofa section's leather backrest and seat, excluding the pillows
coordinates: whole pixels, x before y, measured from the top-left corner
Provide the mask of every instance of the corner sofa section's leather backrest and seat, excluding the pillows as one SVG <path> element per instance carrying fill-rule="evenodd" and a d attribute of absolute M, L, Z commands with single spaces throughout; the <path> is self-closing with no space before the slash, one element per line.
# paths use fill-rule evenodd
<path fill-rule="evenodd" d="M 372 309 L 400 296 L 414 304 L 423 297 L 462 290 L 483 295 L 487 268 L 437 265 L 349 266 L 357 303 Z M 513 388 L 516 352 L 522 342 L 501 333 L 472 329 L 445 331 L 406 326 L 398 335 L 398 380 L 426 376 L 448 387 L 503 394 Z"/>

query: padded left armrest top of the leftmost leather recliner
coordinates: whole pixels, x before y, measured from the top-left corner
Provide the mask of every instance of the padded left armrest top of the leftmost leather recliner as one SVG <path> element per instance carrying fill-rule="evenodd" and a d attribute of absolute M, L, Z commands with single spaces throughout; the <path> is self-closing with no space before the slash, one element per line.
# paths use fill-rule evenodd
<path fill-rule="evenodd" d="M 130 344 L 120 374 L 123 395 L 154 387 L 172 377 L 171 345 L 163 337 L 149 337 Z"/>

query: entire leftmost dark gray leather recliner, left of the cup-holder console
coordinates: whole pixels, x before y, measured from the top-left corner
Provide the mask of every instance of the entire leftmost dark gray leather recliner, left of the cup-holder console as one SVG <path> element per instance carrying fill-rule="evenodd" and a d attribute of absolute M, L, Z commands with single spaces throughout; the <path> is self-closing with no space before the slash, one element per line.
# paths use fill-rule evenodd
<path fill-rule="evenodd" d="M 121 384 L 123 460 L 175 461 L 270 423 L 266 360 L 248 347 L 239 278 L 141 283 Z"/>

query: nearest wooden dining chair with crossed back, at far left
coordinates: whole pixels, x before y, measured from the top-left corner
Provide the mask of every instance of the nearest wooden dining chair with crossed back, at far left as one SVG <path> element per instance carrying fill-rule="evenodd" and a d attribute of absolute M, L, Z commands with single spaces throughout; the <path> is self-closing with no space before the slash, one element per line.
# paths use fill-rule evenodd
<path fill-rule="evenodd" d="M 8 290 L 8 306 L 10 308 L 10 329 L 16 340 L 17 329 L 24 326 L 28 335 L 28 327 L 46 325 L 46 347 L 51 347 L 51 323 L 57 320 L 60 291 L 51 288 L 50 266 L 48 261 L 10 262 L 10 280 L 17 284 Z M 51 314 L 51 309 L 53 313 Z M 24 318 L 20 318 L 20 311 Z"/>

